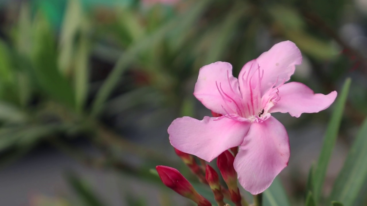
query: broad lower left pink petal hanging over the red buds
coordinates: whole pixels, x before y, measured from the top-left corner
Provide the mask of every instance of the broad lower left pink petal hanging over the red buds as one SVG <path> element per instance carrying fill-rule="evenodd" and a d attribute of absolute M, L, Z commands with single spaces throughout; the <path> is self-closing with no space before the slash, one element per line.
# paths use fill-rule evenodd
<path fill-rule="evenodd" d="M 168 127 L 170 142 L 182 152 L 195 155 L 207 162 L 231 147 L 239 146 L 250 127 L 226 117 L 191 117 L 175 119 Z"/>

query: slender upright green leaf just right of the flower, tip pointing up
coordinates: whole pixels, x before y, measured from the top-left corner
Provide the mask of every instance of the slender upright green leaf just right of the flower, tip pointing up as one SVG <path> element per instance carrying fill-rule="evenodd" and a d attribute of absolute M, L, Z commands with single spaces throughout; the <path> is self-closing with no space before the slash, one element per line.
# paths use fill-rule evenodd
<path fill-rule="evenodd" d="M 321 149 L 319 161 L 317 162 L 317 166 L 315 168 L 313 195 L 316 202 L 319 201 L 322 194 L 327 166 L 329 164 L 331 153 L 333 152 L 333 148 L 338 137 L 339 126 L 342 120 L 345 102 L 348 97 L 350 82 L 350 78 L 345 80 L 342 91 L 341 93 L 339 93 L 336 100 L 335 108 L 333 114 L 331 115 L 331 120 L 327 126 L 326 134 L 324 136 L 324 143 Z"/>

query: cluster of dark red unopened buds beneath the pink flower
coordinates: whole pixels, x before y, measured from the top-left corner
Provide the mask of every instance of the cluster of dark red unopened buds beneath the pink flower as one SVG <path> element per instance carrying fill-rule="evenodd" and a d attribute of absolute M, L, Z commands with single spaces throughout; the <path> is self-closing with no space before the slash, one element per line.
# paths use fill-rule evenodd
<path fill-rule="evenodd" d="M 231 148 L 233 153 L 234 150 L 235 148 Z M 198 165 L 193 155 L 187 154 L 177 149 L 175 149 L 175 152 L 189 167 L 191 172 L 199 178 L 201 183 L 210 186 L 214 194 L 215 202 L 217 202 L 218 206 L 230 206 L 228 203 L 225 203 L 225 198 L 230 199 L 235 206 L 248 206 L 247 202 L 242 198 L 239 188 L 237 187 L 237 173 L 233 168 L 235 157 L 230 151 L 224 151 L 217 158 L 219 172 L 222 175 L 228 190 L 221 185 L 218 173 L 214 168 L 212 168 L 212 166 L 206 163 Z M 205 167 L 204 173 L 201 169 L 203 167 Z M 171 188 L 178 194 L 191 199 L 198 206 L 211 206 L 210 201 L 201 196 L 177 169 L 168 166 L 156 166 L 156 170 L 163 184 L 168 188 Z"/>

